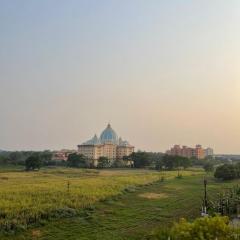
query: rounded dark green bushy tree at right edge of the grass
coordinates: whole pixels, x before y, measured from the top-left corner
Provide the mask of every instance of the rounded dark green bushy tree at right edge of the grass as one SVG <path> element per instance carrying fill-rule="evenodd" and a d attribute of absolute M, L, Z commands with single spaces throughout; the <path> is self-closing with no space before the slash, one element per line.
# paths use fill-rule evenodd
<path fill-rule="evenodd" d="M 231 180 L 237 177 L 237 172 L 232 164 L 223 164 L 217 167 L 215 173 L 215 178 L 220 178 L 223 180 Z"/>

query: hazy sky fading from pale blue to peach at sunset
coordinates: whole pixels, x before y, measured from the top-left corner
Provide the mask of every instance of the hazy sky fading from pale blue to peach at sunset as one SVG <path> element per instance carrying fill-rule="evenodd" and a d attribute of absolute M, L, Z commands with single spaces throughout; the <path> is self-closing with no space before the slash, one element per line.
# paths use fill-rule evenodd
<path fill-rule="evenodd" d="M 0 149 L 240 154 L 239 0 L 0 0 Z"/>

